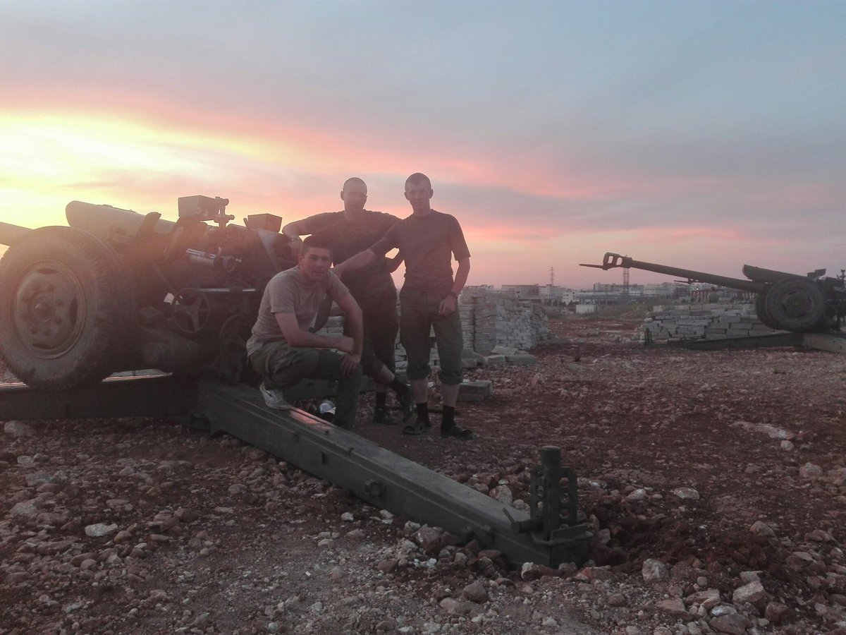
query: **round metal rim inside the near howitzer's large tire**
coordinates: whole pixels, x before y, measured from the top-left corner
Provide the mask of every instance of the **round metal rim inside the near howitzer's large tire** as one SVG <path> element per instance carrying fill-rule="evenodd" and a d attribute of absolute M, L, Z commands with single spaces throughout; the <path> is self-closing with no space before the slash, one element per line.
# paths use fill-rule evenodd
<path fill-rule="evenodd" d="M 14 330 L 32 355 L 62 356 L 80 338 L 85 323 L 82 286 L 61 262 L 30 268 L 15 295 Z"/>

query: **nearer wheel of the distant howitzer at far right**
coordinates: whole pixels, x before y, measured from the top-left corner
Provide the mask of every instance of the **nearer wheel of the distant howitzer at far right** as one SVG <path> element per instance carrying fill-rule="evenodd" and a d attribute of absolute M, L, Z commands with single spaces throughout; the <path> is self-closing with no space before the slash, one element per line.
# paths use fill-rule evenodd
<path fill-rule="evenodd" d="M 812 331 L 826 318 L 826 298 L 813 280 L 785 278 L 772 285 L 764 301 L 766 314 L 778 329 Z"/>

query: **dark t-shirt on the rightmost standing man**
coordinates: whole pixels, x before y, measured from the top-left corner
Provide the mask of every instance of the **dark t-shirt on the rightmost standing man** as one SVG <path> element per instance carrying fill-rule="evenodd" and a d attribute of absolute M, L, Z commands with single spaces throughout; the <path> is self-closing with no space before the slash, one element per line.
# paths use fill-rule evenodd
<path fill-rule="evenodd" d="M 393 224 L 371 251 L 381 257 L 393 247 L 399 248 L 405 260 L 404 289 L 448 293 L 453 285 L 453 255 L 456 260 L 470 257 L 459 221 L 435 210 Z"/>

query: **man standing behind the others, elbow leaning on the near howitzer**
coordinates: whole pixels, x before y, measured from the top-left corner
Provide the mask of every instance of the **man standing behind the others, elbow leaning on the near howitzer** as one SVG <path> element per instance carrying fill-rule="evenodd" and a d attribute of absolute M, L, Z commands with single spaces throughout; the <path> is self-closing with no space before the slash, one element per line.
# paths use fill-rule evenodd
<path fill-rule="evenodd" d="M 300 235 L 320 234 L 332 243 L 335 262 L 343 262 L 382 238 L 399 218 L 365 209 L 367 185 L 362 179 L 347 179 L 341 190 L 342 212 L 316 214 L 288 223 L 282 233 L 291 239 L 294 256 L 303 244 Z M 365 268 L 344 274 L 341 279 L 361 307 L 364 319 L 364 348 L 361 367 L 376 383 L 376 406 L 373 422 L 388 425 L 398 420 L 387 411 L 387 389 L 397 394 L 402 406 L 403 421 L 414 414 L 414 397 L 409 387 L 394 375 L 394 345 L 397 340 L 397 289 L 391 272 L 398 259 L 378 258 Z M 393 268 L 392 268 L 393 266 Z M 344 327 L 346 329 L 346 327 Z"/>

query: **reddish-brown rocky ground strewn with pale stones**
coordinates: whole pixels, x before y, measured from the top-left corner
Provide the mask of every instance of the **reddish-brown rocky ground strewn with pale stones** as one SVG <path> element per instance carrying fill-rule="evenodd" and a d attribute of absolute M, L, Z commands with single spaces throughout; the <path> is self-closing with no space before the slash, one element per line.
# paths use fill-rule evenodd
<path fill-rule="evenodd" d="M 494 385 L 459 404 L 470 442 L 360 412 L 515 506 L 559 445 L 585 566 L 509 567 L 174 422 L 3 422 L 0 633 L 846 633 L 843 356 L 645 348 L 637 325 L 558 321 L 535 366 L 468 373 Z"/>

